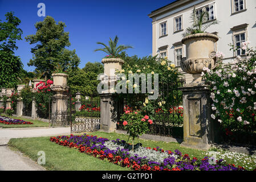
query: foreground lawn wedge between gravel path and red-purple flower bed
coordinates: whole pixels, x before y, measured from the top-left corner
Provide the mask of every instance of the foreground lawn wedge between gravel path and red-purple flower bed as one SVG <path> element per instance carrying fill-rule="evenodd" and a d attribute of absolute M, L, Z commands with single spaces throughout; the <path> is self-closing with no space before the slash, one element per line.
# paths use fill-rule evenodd
<path fill-rule="evenodd" d="M 46 154 L 47 170 L 54 171 L 126 171 L 127 168 L 80 153 L 78 150 L 63 147 L 50 141 L 50 137 L 10 139 L 9 146 L 19 150 L 37 162 L 38 151 Z"/>

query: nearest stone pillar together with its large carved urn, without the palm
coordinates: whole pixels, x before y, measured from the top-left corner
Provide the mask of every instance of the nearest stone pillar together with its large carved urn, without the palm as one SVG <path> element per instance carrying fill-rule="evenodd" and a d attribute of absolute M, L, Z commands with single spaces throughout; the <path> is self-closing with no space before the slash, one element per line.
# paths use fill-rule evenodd
<path fill-rule="evenodd" d="M 204 67 L 216 68 L 222 58 L 216 57 L 214 43 L 218 36 L 201 33 L 185 36 L 186 58 L 181 60 L 184 72 L 192 74 L 194 80 L 182 88 L 184 141 L 181 146 L 208 150 L 214 143 L 214 121 L 210 92 L 202 80 Z"/>

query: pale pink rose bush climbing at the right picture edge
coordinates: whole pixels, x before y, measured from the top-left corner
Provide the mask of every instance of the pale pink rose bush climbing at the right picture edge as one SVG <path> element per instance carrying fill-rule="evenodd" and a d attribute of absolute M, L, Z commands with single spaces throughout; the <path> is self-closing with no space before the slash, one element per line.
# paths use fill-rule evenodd
<path fill-rule="evenodd" d="M 234 64 L 221 64 L 215 71 L 204 68 L 202 76 L 213 100 L 212 118 L 220 122 L 225 135 L 235 139 L 234 135 L 239 131 L 243 132 L 240 138 L 245 139 L 250 133 L 247 139 L 251 138 L 251 144 L 255 144 L 256 51 L 249 47 L 249 43 L 241 44 L 245 56 L 237 56 Z"/>

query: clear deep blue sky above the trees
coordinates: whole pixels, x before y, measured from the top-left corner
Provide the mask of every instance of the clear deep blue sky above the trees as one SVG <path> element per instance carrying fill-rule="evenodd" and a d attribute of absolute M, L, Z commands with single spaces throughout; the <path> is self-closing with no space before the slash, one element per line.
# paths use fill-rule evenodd
<path fill-rule="evenodd" d="M 5 14 L 14 11 L 21 19 L 22 40 L 15 55 L 20 56 L 24 69 L 34 71 L 27 63 L 32 58 L 29 42 L 25 36 L 35 34 L 35 23 L 44 19 L 39 17 L 38 3 L 46 5 L 46 16 L 52 16 L 56 22 L 64 22 L 64 31 L 70 32 L 71 46 L 80 57 L 80 68 L 88 62 L 101 61 L 104 52 L 94 52 L 101 47 L 96 42 L 107 43 L 109 38 L 119 37 L 119 44 L 133 46 L 128 55 L 148 56 L 152 53 L 152 24 L 148 14 L 168 5 L 174 0 L 0 0 L 0 19 L 5 21 Z"/>

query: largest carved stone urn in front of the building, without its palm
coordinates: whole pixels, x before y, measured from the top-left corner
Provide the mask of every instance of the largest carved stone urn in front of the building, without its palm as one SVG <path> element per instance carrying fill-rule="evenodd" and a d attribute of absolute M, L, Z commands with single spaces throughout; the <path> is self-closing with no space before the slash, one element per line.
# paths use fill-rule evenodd
<path fill-rule="evenodd" d="M 214 69 L 218 66 L 214 51 L 217 41 L 218 36 L 210 33 L 188 35 L 181 40 L 186 45 L 186 57 L 181 60 L 181 69 L 193 75 L 192 83 L 201 82 L 204 67 Z"/>

